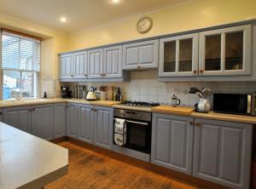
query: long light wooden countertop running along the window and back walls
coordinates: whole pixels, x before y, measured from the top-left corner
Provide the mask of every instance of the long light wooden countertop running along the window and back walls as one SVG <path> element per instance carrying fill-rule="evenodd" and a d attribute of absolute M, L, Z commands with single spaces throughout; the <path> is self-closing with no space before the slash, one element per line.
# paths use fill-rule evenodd
<path fill-rule="evenodd" d="M 136 110 L 136 111 L 143 111 L 143 112 L 176 114 L 176 115 L 182 115 L 182 116 L 200 117 L 200 118 L 208 118 L 208 119 L 217 119 L 222 121 L 256 124 L 256 117 L 253 117 L 253 116 L 241 116 L 241 115 L 217 113 L 217 112 L 200 113 L 200 112 L 194 112 L 194 108 L 192 107 L 183 107 L 183 106 L 173 107 L 168 105 L 161 105 L 161 106 L 155 106 L 152 108 L 134 107 L 134 106 L 130 107 L 130 106 L 119 105 L 120 103 L 119 101 L 112 101 L 112 100 L 90 101 L 90 100 L 82 100 L 82 99 L 61 99 L 61 98 L 36 99 L 36 100 L 0 100 L 0 108 L 14 107 L 14 106 L 33 106 L 33 105 L 65 103 L 65 102 L 87 104 L 92 106 L 109 106 L 114 108 Z"/>

